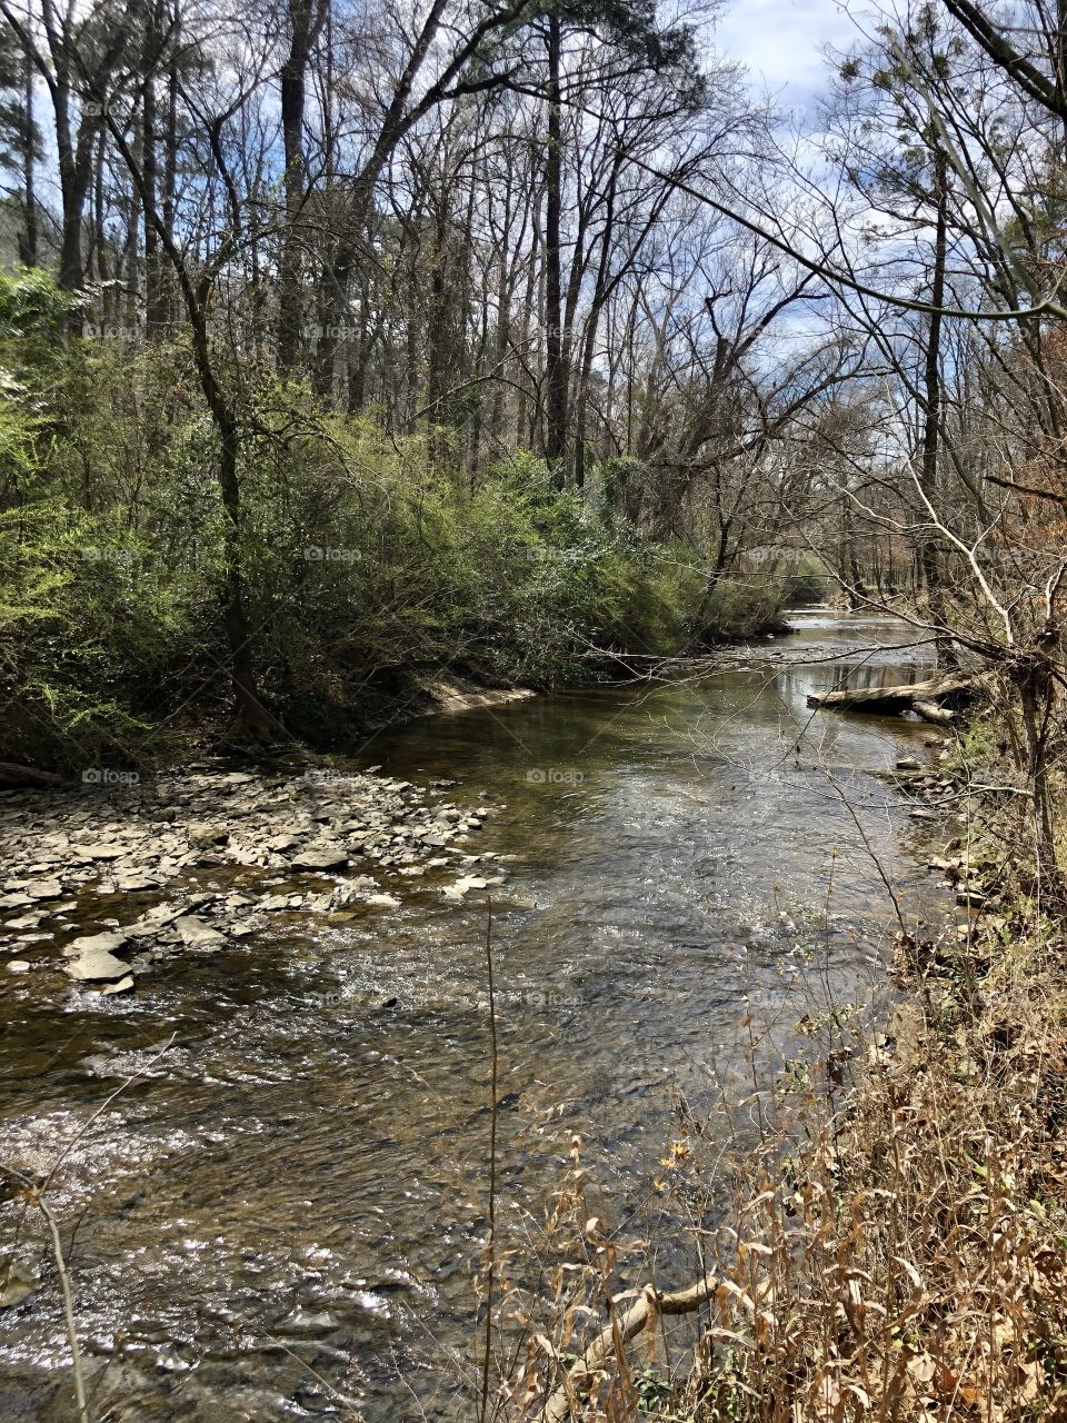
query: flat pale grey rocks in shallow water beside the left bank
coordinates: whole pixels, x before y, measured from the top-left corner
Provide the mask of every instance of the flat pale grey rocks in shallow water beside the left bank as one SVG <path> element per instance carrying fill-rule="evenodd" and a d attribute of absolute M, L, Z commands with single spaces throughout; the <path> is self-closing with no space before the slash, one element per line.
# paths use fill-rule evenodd
<path fill-rule="evenodd" d="M 491 814 L 367 771 L 209 764 L 0 794 L 0 952 L 43 988 L 132 992 L 175 953 L 211 953 L 279 916 L 388 914 L 420 888 L 461 901 L 504 881 L 474 848 Z M 475 793 L 475 798 L 477 793 Z"/>

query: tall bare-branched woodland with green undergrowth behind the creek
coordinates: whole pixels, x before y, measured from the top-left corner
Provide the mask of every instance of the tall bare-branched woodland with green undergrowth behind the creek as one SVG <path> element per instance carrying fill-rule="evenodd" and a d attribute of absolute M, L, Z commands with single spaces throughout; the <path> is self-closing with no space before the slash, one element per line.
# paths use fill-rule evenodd
<path fill-rule="evenodd" d="M 1026 620 L 1058 31 L 1023 83 L 886 14 L 795 131 L 714 18 L 6 6 L 9 760 L 331 744 L 418 667 L 548 686 L 818 596 Z"/>

